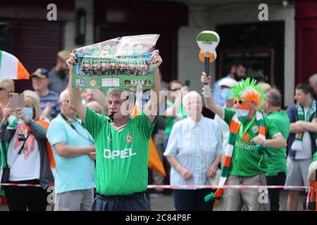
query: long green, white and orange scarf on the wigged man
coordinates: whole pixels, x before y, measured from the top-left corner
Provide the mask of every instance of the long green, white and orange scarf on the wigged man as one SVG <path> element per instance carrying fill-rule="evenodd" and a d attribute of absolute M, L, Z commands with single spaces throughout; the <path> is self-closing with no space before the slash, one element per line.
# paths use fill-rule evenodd
<path fill-rule="evenodd" d="M 263 121 L 263 115 L 260 112 L 256 112 L 256 124 L 259 127 L 259 137 L 265 141 L 266 140 L 266 127 Z M 229 140 L 228 140 L 228 146 L 225 150 L 225 159 L 223 162 L 223 168 L 221 171 L 221 176 L 219 180 L 218 186 L 224 186 L 225 181 L 227 177 L 229 176 L 229 169 L 231 165 L 231 158 L 233 154 L 233 150 L 235 149 L 235 139 L 237 136 L 237 133 L 240 129 L 241 122 L 237 117 L 237 113 L 232 117 L 232 120 L 230 122 L 230 134 L 229 134 Z M 223 188 L 218 188 L 215 193 L 210 193 L 209 195 L 206 195 L 205 202 L 213 199 L 213 200 L 219 200 L 221 195 L 223 195 Z"/>

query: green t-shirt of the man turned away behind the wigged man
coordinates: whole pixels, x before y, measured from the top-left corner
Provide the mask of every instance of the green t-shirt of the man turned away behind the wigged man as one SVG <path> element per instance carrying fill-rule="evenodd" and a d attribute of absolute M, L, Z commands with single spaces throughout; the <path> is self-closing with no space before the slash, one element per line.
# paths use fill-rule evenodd
<path fill-rule="evenodd" d="M 290 134 L 290 119 L 287 117 L 285 111 L 280 110 L 275 113 L 270 113 L 267 120 L 272 120 L 278 130 L 282 133 L 282 136 L 287 140 Z M 286 164 L 286 147 L 282 148 L 268 148 L 268 169 L 266 176 L 276 176 L 279 172 L 285 172 L 287 174 Z"/>

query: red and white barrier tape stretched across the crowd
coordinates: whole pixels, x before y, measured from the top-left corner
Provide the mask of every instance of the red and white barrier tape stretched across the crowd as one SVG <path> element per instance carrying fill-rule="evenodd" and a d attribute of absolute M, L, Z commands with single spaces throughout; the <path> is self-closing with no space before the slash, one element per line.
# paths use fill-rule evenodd
<path fill-rule="evenodd" d="M 30 187 L 30 188 L 38 188 L 41 187 L 40 184 L 0 184 L 0 186 L 18 186 L 18 187 Z M 49 185 L 54 186 L 54 185 Z M 225 186 L 214 186 L 214 185 L 148 185 L 147 188 L 149 189 L 202 189 L 202 188 L 223 188 L 223 189 L 230 189 L 230 188 L 240 188 L 240 189 L 247 189 L 247 188 L 310 188 L 309 186 L 261 186 L 261 185 L 225 185 Z"/>

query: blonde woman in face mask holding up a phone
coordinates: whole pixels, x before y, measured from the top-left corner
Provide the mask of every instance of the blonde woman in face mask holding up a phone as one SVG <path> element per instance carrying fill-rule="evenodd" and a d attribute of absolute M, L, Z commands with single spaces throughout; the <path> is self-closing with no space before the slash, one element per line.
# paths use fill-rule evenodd
<path fill-rule="evenodd" d="M 13 184 L 40 184 L 42 187 L 6 186 L 4 191 L 11 211 L 46 210 L 46 188 L 54 184 L 46 150 L 46 126 L 40 120 L 39 97 L 34 91 L 24 91 L 24 107 L 4 109 L 0 124 L 0 139 L 8 141 L 8 181 Z"/>

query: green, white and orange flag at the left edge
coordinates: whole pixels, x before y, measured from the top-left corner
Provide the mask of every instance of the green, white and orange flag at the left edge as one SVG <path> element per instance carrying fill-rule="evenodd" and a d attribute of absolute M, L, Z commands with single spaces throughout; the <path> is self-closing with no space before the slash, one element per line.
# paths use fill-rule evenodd
<path fill-rule="evenodd" d="M 0 79 L 30 79 L 30 74 L 18 58 L 0 50 Z"/>

